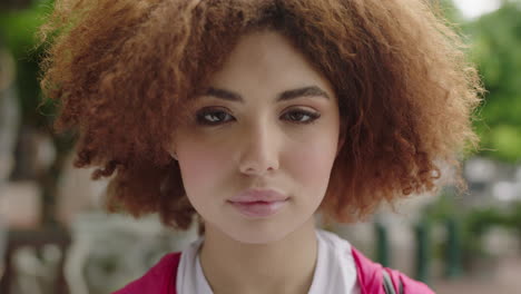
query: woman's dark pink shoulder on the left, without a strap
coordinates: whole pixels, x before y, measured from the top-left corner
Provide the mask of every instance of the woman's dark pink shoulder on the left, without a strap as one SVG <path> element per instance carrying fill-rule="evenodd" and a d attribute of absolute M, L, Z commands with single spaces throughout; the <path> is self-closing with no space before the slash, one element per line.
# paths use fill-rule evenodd
<path fill-rule="evenodd" d="M 180 252 L 163 256 L 145 275 L 130 282 L 127 286 L 112 294 L 175 294 L 173 291 L 175 290 L 174 283 L 176 281 L 179 259 Z"/>

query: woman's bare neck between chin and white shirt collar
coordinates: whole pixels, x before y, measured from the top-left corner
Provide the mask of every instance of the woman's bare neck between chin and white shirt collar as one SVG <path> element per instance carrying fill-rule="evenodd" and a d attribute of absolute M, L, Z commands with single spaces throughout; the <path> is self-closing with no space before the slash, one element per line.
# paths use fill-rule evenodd
<path fill-rule="evenodd" d="M 269 244 L 237 242 L 206 228 L 203 272 L 215 294 L 307 293 L 316 265 L 314 219 Z"/>

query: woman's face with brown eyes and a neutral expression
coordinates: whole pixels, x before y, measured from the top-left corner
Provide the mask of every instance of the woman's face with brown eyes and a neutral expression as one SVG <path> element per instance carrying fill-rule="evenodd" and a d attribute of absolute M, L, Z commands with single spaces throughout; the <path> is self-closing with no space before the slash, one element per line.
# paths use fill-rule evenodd
<path fill-rule="evenodd" d="M 206 231 L 265 244 L 312 224 L 338 149 L 331 84 L 263 31 L 242 37 L 205 92 L 169 151 Z"/>

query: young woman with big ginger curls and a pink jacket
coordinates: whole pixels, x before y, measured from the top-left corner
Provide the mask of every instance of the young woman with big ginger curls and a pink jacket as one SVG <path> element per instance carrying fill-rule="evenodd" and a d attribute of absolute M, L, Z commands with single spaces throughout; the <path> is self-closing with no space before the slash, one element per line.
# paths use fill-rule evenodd
<path fill-rule="evenodd" d="M 56 2 L 42 88 L 111 210 L 200 238 L 122 293 L 433 293 L 315 227 L 434 192 L 478 75 L 420 0 Z"/>

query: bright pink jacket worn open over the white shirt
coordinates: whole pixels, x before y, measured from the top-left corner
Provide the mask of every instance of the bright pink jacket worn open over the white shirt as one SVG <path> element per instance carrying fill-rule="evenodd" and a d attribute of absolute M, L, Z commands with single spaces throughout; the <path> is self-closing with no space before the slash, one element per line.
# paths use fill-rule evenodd
<path fill-rule="evenodd" d="M 403 294 L 434 293 L 425 284 L 414 281 L 397 271 L 382 267 L 382 265 L 370 261 L 354 247 L 352 251 L 356 264 L 361 294 L 385 294 L 382 271 L 387 271 L 394 284 L 394 288 L 396 288 L 396 293 L 400 281 L 403 285 Z M 180 253 L 167 254 L 142 277 L 112 294 L 177 294 L 176 276 L 179 261 Z"/>

